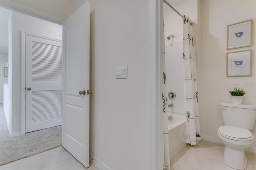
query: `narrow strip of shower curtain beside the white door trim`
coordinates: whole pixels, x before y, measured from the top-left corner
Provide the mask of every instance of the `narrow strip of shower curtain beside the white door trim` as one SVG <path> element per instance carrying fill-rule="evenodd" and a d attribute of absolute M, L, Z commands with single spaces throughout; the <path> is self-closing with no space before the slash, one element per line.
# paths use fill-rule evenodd
<path fill-rule="evenodd" d="M 164 20 L 164 18 L 163 18 Z M 163 69 L 163 92 L 162 92 L 162 101 L 163 101 L 163 109 L 162 109 L 162 122 L 163 122 L 163 150 L 164 150 L 164 162 L 163 169 L 166 168 L 170 170 L 170 154 L 169 154 L 169 139 L 168 139 L 168 115 L 165 110 L 167 97 L 166 97 L 166 55 L 165 55 L 165 42 L 164 42 L 164 25 L 163 25 L 163 35 L 162 35 L 162 69 Z"/>

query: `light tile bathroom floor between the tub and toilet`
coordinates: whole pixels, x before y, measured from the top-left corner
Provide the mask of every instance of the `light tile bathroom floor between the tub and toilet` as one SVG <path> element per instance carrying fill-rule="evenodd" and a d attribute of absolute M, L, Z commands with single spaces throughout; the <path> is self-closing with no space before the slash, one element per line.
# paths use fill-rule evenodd
<path fill-rule="evenodd" d="M 171 170 L 234 170 L 222 161 L 224 146 L 201 140 L 198 145 L 187 145 L 171 159 Z M 246 152 L 246 170 L 256 170 L 256 154 Z"/>

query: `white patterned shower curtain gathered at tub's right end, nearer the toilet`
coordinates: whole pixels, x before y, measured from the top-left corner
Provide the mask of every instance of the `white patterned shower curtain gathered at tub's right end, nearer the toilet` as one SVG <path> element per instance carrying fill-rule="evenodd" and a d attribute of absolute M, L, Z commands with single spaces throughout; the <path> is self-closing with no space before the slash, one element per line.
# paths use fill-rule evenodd
<path fill-rule="evenodd" d="M 183 17 L 183 59 L 185 76 L 186 143 L 196 145 L 201 140 L 196 80 L 196 53 L 191 20 Z"/>

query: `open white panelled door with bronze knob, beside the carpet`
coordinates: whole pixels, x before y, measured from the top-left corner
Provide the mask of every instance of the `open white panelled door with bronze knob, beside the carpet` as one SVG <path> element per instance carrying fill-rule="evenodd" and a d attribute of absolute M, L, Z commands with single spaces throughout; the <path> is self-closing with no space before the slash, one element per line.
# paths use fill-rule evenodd
<path fill-rule="evenodd" d="M 63 22 L 62 146 L 89 167 L 90 3 Z"/>

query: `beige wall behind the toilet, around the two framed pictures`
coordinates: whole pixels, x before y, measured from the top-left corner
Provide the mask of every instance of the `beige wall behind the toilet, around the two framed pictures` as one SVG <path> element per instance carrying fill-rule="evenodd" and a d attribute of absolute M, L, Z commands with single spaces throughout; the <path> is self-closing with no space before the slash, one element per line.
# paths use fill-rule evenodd
<path fill-rule="evenodd" d="M 255 0 L 202 0 L 202 45 L 198 59 L 198 89 L 200 102 L 201 134 L 217 136 L 218 127 L 222 126 L 221 102 L 231 103 L 228 90 L 234 83 L 256 83 L 256 38 L 255 38 Z M 227 25 L 253 19 L 253 46 L 226 50 Z M 226 53 L 252 49 L 252 76 L 226 77 Z M 256 88 L 244 87 L 247 94 L 243 104 L 256 104 Z M 256 127 L 252 131 L 256 135 Z M 254 142 L 254 147 L 256 143 Z"/>

